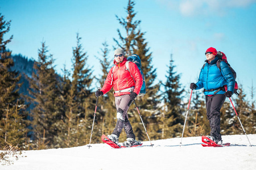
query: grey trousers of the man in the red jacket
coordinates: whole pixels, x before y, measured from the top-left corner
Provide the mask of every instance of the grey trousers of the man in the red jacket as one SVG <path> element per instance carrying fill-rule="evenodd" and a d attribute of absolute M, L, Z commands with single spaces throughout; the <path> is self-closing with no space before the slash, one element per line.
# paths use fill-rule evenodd
<path fill-rule="evenodd" d="M 131 105 L 131 97 L 129 95 L 122 95 L 115 97 L 115 108 L 117 108 L 117 124 L 112 134 L 119 137 L 122 129 L 125 129 L 126 137 L 135 139 L 133 128 L 128 120 L 127 111 Z"/>

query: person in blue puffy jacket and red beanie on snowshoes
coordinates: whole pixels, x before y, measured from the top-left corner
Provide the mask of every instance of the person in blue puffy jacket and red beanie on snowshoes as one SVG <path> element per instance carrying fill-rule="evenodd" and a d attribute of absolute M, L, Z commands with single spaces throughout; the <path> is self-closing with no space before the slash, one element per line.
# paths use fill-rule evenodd
<path fill-rule="evenodd" d="M 220 62 L 221 69 L 217 67 L 217 50 L 208 48 L 205 52 L 207 60 L 202 67 L 197 83 L 191 83 L 191 90 L 204 88 L 205 103 L 207 108 L 207 118 L 210 122 L 210 136 L 217 144 L 222 144 L 220 134 L 220 109 L 226 97 L 231 97 L 234 92 L 235 78 L 228 64 Z M 225 92 L 224 85 L 228 86 Z"/>

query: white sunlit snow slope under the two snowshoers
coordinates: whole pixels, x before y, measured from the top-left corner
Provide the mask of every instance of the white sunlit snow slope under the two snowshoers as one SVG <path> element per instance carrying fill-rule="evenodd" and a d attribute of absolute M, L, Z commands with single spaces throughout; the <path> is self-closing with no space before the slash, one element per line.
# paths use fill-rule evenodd
<path fill-rule="evenodd" d="M 201 137 L 143 142 L 140 147 L 111 148 L 105 143 L 74 148 L 26 151 L 27 156 L 0 169 L 256 169 L 256 134 L 225 135 L 229 147 L 202 147 Z M 99 137 L 100 138 L 100 137 Z"/>

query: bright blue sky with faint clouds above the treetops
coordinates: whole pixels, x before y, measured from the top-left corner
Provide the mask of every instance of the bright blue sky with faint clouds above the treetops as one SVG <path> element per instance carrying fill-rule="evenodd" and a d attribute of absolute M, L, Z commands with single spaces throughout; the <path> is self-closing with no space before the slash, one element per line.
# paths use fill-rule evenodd
<path fill-rule="evenodd" d="M 100 76 L 102 43 L 116 46 L 117 28 L 123 30 L 115 15 L 125 18 L 128 0 L 111 1 L 6 1 L 0 0 L 0 12 L 5 20 L 12 20 L 6 39 L 13 54 L 38 58 L 38 49 L 45 41 L 55 58 L 56 70 L 61 73 L 64 64 L 71 69 L 72 48 L 76 33 L 82 38 L 93 74 Z M 250 99 L 252 83 L 256 86 L 256 0 L 139 0 L 134 7 L 136 20 L 146 32 L 152 64 L 157 69 L 156 81 L 165 81 L 170 54 L 180 82 L 189 89 L 196 82 L 204 64 L 204 52 L 210 46 L 221 50 L 237 71 L 237 82 Z M 95 85 L 96 89 L 97 85 Z M 254 91 L 255 93 L 256 91 Z"/>

